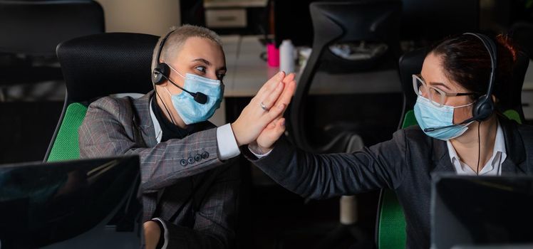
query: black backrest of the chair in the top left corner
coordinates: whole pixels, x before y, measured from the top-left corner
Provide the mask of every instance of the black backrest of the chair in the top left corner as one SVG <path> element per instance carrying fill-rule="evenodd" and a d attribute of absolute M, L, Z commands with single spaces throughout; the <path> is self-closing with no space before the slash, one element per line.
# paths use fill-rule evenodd
<path fill-rule="evenodd" d="M 0 1 L 0 53 L 55 55 L 62 41 L 103 33 L 95 1 Z"/>

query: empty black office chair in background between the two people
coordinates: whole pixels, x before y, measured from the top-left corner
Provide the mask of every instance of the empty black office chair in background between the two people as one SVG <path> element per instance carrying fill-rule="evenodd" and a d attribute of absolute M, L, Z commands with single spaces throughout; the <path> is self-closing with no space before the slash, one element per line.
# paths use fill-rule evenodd
<path fill-rule="evenodd" d="M 345 124 L 328 139 L 326 145 L 313 144 L 309 135 L 306 106 L 309 89 L 317 70 L 328 73 L 353 73 L 397 68 L 400 55 L 399 26 L 400 1 L 316 2 L 309 7 L 314 26 L 313 51 L 301 74 L 290 108 L 291 138 L 298 147 L 311 152 L 345 152 L 353 138 L 353 131 Z M 346 43 L 373 43 L 381 46 L 368 48 L 363 58 L 344 58 L 335 46 Z M 376 51 L 373 48 L 381 48 Z M 383 51 L 383 48 L 385 50 Z M 353 83 L 364 84 L 364 83 Z M 339 107 L 343 108 L 343 107 Z M 336 124 L 328 124 L 335 127 Z M 349 126 L 349 125 L 348 125 Z M 316 134 L 314 134 L 316 136 Z"/>

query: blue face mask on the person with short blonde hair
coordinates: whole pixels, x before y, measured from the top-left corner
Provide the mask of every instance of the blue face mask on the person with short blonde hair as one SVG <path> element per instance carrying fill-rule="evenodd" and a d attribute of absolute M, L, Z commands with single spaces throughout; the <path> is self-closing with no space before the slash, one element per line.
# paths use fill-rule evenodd
<path fill-rule="evenodd" d="M 171 69 L 174 70 L 174 68 Z M 172 95 L 170 91 L 165 88 L 172 99 L 172 105 L 174 105 L 177 114 L 180 115 L 185 124 L 194 124 L 209 120 L 209 118 L 213 116 L 214 111 L 220 107 L 222 95 L 224 95 L 223 85 L 220 80 L 211 80 L 191 73 L 187 73 L 183 76 L 176 70 L 174 71 L 185 79 L 183 88 L 190 92 L 202 92 L 207 95 L 207 102 L 205 104 L 200 104 L 185 91 L 182 91 L 177 95 Z"/>

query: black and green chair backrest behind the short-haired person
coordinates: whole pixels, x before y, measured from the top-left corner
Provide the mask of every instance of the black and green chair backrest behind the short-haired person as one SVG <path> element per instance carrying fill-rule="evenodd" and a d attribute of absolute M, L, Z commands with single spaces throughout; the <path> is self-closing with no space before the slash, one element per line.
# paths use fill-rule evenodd
<path fill-rule="evenodd" d="M 58 46 L 67 94 L 45 161 L 79 157 L 78 127 L 90 102 L 110 94 L 152 89 L 150 65 L 158 38 L 141 33 L 102 33 Z"/>

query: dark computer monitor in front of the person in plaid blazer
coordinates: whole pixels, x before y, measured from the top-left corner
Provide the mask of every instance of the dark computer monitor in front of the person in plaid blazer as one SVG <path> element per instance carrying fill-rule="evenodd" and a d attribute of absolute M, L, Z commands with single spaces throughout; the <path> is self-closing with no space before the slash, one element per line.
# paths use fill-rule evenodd
<path fill-rule="evenodd" d="M 1 248 L 43 247 L 106 226 L 128 213 L 118 207 L 135 199 L 138 179 L 138 156 L 0 165 Z"/>

